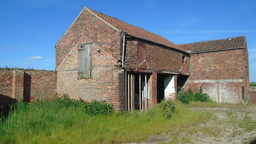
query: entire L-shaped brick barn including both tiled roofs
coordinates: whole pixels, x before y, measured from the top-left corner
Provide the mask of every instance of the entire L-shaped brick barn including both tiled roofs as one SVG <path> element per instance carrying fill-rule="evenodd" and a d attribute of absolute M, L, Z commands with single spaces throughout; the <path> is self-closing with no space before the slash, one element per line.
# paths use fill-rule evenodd
<path fill-rule="evenodd" d="M 147 109 L 182 88 L 202 87 L 220 102 L 246 98 L 245 36 L 175 45 L 84 7 L 55 47 L 57 93 L 105 100 L 116 111 Z"/>

